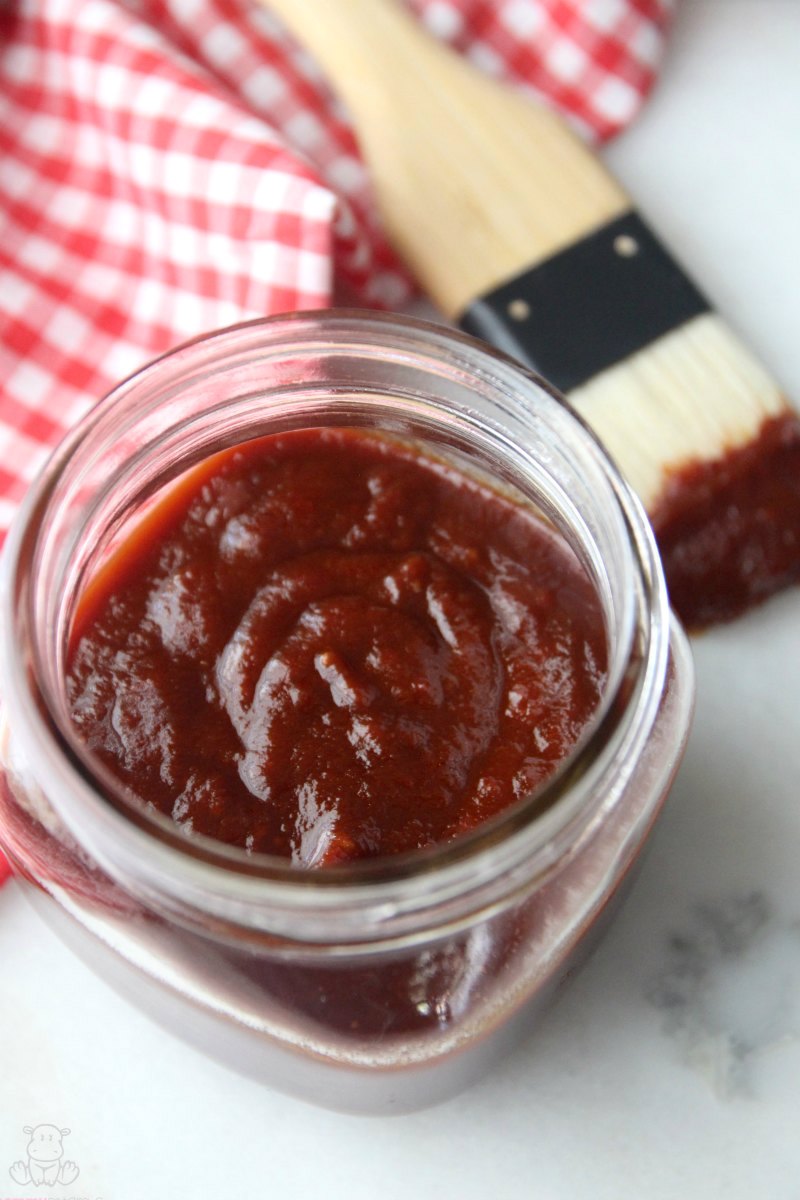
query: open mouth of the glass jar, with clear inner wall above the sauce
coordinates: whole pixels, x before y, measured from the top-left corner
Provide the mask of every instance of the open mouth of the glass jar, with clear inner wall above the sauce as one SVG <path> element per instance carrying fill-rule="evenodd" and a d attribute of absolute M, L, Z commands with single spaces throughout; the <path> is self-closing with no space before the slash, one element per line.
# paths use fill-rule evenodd
<path fill-rule="evenodd" d="M 361 376 L 354 382 L 355 362 Z M 545 516 L 569 534 L 603 593 L 609 626 L 608 684 L 599 709 L 535 791 L 451 842 L 324 870 L 188 836 L 169 817 L 145 810 L 79 740 L 62 686 L 68 598 L 79 593 L 90 563 L 78 552 L 79 535 L 98 545 L 120 527 L 142 499 L 142 463 L 154 464 L 152 492 L 156 482 L 162 486 L 213 450 L 264 432 L 309 427 L 309 419 L 339 425 L 379 419 L 371 427 L 414 431 L 422 439 L 435 432 L 453 452 L 483 455 L 485 467 L 492 451 L 494 466 L 501 463 L 500 482 L 519 486 L 524 478 Z M 576 499 L 577 484 L 570 494 L 572 476 L 583 480 L 594 508 Z M 227 911 L 230 904 L 277 896 L 324 910 L 356 890 L 384 898 L 399 912 L 405 904 L 419 908 L 463 892 L 469 876 L 482 886 L 489 860 L 493 875 L 501 865 L 506 887 L 523 862 L 530 871 L 531 856 L 545 875 L 614 803 L 627 756 L 636 755 L 655 720 L 669 653 L 666 587 L 646 517 L 567 403 L 467 335 L 348 310 L 235 325 L 185 343 L 120 384 L 61 444 L 31 488 L 5 550 L 0 602 L 6 695 L 65 824 L 107 869 L 127 875 L 146 858 L 152 886 L 182 888 L 184 895 L 210 889 Z M 398 888 L 409 881 L 420 887 L 404 898 Z"/>

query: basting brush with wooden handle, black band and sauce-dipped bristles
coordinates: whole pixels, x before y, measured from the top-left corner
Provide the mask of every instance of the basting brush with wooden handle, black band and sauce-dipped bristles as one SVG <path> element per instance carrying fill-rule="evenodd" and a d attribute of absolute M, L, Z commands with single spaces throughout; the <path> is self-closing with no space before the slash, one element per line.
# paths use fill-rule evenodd
<path fill-rule="evenodd" d="M 800 578 L 800 418 L 569 126 L 396 0 L 269 7 L 344 100 L 421 288 L 616 458 L 682 619 L 729 619 Z"/>

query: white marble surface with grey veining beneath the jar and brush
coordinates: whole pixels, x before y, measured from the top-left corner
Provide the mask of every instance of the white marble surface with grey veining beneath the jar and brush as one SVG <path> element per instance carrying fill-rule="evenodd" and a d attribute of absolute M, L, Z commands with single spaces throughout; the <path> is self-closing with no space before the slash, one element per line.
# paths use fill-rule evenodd
<path fill-rule="evenodd" d="M 800 397 L 800 2 L 682 0 L 608 158 Z M 537 1034 L 437 1110 L 343 1117 L 228 1073 L 5 888 L 0 1200 L 34 1194 L 7 1169 L 38 1122 L 72 1129 L 59 1198 L 798 1200 L 800 590 L 694 652 L 696 728 L 627 906 Z"/>

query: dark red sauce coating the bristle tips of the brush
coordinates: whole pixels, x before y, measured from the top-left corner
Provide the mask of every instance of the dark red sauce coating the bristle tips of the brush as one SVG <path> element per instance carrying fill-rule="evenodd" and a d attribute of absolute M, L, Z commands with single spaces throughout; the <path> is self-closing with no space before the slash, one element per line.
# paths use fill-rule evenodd
<path fill-rule="evenodd" d="M 669 598 L 690 629 L 730 620 L 800 580 L 800 418 L 668 480 L 651 512 Z"/>

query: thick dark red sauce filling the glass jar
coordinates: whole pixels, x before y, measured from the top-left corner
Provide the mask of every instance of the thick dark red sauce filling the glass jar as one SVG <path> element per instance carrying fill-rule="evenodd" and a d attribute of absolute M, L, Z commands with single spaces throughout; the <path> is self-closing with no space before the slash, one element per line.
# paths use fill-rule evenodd
<path fill-rule="evenodd" d="M 300 866 L 447 841 L 575 744 L 606 642 L 522 504 L 343 430 L 209 461 L 86 589 L 82 737 L 188 833 Z"/>

